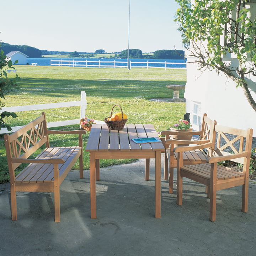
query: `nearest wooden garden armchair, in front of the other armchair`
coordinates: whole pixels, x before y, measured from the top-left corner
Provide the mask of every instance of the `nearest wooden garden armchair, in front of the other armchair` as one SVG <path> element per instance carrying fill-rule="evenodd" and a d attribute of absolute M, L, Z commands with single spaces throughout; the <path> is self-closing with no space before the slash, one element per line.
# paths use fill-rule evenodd
<path fill-rule="evenodd" d="M 204 164 L 184 166 L 181 148 L 178 153 L 177 167 L 177 204 L 182 204 L 182 178 L 186 177 L 208 187 L 210 197 L 210 220 L 216 220 L 217 190 L 242 185 L 242 212 L 248 211 L 249 166 L 252 146 L 252 129 L 241 130 L 225 126 L 215 126 L 217 145 L 211 151 L 211 157 Z M 224 151 L 225 150 L 225 151 Z M 232 151 L 232 153 L 230 153 Z M 243 164 L 242 171 L 218 165 L 222 161 L 234 161 Z"/>

